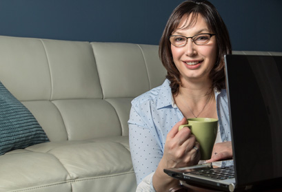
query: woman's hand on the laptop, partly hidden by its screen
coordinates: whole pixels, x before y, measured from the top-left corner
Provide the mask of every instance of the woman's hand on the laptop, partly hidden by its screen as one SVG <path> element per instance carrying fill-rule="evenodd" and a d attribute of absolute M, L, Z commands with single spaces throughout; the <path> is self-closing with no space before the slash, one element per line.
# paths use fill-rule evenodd
<path fill-rule="evenodd" d="M 231 141 L 218 142 L 212 149 L 212 158 L 206 160 L 206 162 L 214 162 L 218 160 L 229 160 L 233 158 Z"/>

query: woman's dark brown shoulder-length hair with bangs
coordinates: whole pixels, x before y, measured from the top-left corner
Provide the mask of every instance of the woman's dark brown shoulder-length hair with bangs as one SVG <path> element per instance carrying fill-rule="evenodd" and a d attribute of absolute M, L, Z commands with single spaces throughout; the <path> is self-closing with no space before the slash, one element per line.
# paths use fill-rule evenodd
<path fill-rule="evenodd" d="M 165 25 L 165 30 L 161 36 L 159 45 L 159 56 L 163 66 L 168 71 L 166 78 L 170 81 L 170 88 L 172 94 L 179 93 L 179 86 L 181 86 L 180 73 L 177 67 L 174 65 L 172 58 L 172 51 L 170 48 L 169 36 L 174 30 L 177 29 L 183 16 L 192 16 L 190 19 L 191 25 L 197 21 L 198 15 L 201 14 L 205 19 L 209 30 L 215 35 L 217 44 L 217 58 L 212 71 L 210 72 L 210 78 L 212 79 L 212 86 L 218 91 L 225 88 L 225 72 L 224 72 L 224 55 L 231 54 L 232 48 L 230 43 L 230 37 L 228 30 L 219 15 L 219 12 L 209 1 L 184 1 L 177 8 L 174 9 L 168 23 Z"/>

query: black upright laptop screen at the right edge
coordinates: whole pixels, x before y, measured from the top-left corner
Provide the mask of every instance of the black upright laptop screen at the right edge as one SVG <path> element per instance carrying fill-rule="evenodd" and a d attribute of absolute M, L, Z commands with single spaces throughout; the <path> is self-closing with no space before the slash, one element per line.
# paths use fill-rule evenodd
<path fill-rule="evenodd" d="M 282 178 L 282 56 L 225 56 L 236 182 Z"/>

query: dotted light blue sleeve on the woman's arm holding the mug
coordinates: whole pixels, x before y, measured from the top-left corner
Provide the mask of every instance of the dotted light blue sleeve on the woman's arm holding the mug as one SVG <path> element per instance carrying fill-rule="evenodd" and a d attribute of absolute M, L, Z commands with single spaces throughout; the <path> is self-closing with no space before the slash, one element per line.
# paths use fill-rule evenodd
<path fill-rule="evenodd" d="M 130 111 L 130 120 L 128 120 L 130 153 L 137 184 L 141 182 L 143 183 L 142 185 L 149 184 L 149 189 L 152 191 L 152 174 L 158 167 L 163 156 L 163 151 L 157 141 L 157 133 L 152 129 L 154 125 L 148 121 L 145 122 L 148 116 L 150 118 L 150 114 L 145 114 L 143 111 L 147 110 L 142 111 L 141 109 L 143 109 L 143 107 L 132 106 Z M 139 112 L 137 112 L 137 110 L 139 110 Z M 150 180 L 146 178 L 148 175 L 151 175 Z"/>

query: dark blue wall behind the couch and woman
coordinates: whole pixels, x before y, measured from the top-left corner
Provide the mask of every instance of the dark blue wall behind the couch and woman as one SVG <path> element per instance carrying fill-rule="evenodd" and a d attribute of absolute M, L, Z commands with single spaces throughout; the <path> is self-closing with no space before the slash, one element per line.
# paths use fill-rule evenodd
<path fill-rule="evenodd" d="M 233 50 L 282 52 L 281 0 L 210 0 Z M 159 44 L 180 0 L 0 0 L 0 35 Z"/>

